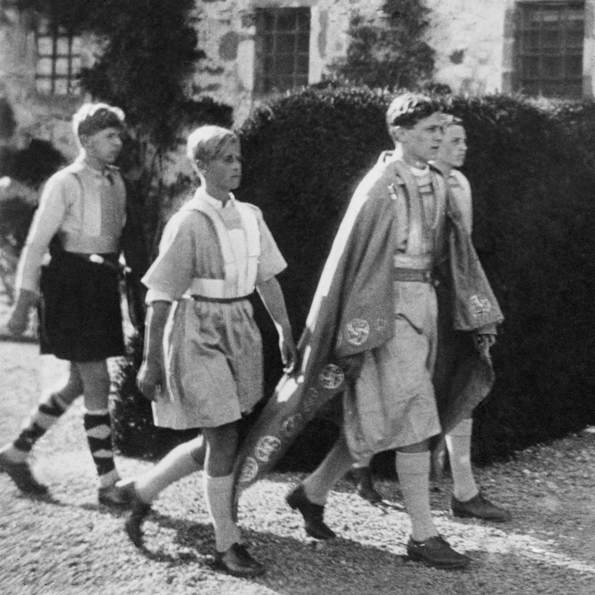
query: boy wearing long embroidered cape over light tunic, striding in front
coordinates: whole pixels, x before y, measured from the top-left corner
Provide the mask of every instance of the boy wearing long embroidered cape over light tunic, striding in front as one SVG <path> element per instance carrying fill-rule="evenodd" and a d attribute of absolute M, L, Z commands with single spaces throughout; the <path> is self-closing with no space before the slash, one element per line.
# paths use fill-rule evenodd
<path fill-rule="evenodd" d="M 444 177 L 428 165 L 443 139 L 431 99 L 405 93 L 387 110 L 403 155 L 380 155 L 359 184 L 337 232 L 300 339 L 300 367 L 281 379 L 245 440 L 237 487 L 270 469 L 325 402 L 343 393 L 343 430 L 287 503 L 311 537 L 335 536 L 323 519 L 328 491 L 352 465 L 396 449 L 412 523 L 410 558 L 462 568 L 468 556 L 439 536 L 430 512 L 430 439 L 441 432 L 432 374 L 441 271 L 449 278 L 453 325 L 491 345 L 503 320 Z M 237 495 L 237 494 L 236 494 Z"/>

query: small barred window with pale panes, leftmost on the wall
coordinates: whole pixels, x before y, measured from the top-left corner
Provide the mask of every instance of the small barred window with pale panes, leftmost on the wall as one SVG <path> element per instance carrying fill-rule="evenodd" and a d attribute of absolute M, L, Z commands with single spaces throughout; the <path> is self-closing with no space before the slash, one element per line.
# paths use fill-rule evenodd
<path fill-rule="evenodd" d="M 78 95 L 81 39 L 43 19 L 36 33 L 35 86 L 45 95 Z"/>

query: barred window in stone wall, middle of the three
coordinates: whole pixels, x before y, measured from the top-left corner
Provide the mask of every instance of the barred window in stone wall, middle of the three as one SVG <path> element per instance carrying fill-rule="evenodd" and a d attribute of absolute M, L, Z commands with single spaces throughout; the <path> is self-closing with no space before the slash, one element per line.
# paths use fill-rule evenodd
<path fill-rule="evenodd" d="M 256 9 L 256 93 L 308 84 L 309 8 Z"/>

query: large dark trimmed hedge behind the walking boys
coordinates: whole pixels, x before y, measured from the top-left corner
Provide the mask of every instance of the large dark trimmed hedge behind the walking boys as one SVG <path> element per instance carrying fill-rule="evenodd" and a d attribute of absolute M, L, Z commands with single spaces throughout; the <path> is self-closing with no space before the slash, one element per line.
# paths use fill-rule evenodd
<path fill-rule="evenodd" d="M 389 101 L 365 88 L 309 88 L 262 105 L 240 129 L 237 195 L 262 208 L 287 259 L 280 282 L 296 339 L 347 202 L 391 148 Z M 595 421 L 595 174 L 560 108 L 507 96 L 440 101 L 465 123 L 474 241 L 506 316 L 493 349 L 496 386 L 475 412 L 474 459 L 488 462 Z M 255 309 L 271 394 L 277 336 L 259 300 Z M 334 437 L 333 425 L 315 420 L 281 466 L 312 468 Z"/>

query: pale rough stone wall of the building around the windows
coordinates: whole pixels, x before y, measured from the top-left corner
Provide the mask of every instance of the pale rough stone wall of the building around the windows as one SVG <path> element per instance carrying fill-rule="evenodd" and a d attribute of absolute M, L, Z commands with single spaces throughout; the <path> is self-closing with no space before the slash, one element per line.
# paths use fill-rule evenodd
<path fill-rule="evenodd" d="M 532 0 L 528 0 L 532 1 Z M 509 92 L 512 70 L 513 10 L 516 0 L 426 0 L 431 10 L 428 43 L 436 49 L 437 82 L 455 92 Z M 345 54 L 346 30 L 353 10 L 369 18 L 380 14 L 382 0 L 202 0 L 192 22 L 207 59 L 197 65 L 189 89 L 211 95 L 234 108 L 241 124 L 258 103 L 255 93 L 255 11 L 258 8 L 311 8 L 309 83 L 322 79 L 328 65 Z M 586 0 L 584 94 L 593 95 L 595 0 Z M 50 140 L 69 158 L 76 154 L 71 114 L 81 96 L 35 93 L 35 21 L 32 15 L 0 0 L 0 96 L 11 103 L 18 122 L 13 143 L 30 137 Z M 93 60 L 93 40 L 83 43 L 83 65 Z M 174 161 L 179 167 L 179 159 Z"/>

